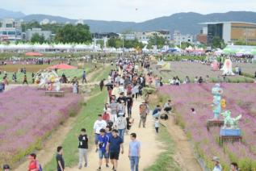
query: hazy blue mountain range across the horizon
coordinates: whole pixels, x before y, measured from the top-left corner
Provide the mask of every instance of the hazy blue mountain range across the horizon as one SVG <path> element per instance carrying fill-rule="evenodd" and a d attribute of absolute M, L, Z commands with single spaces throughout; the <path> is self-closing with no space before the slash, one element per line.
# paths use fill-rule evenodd
<path fill-rule="evenodd" d="M 49 19 L 57 23 L 75 23 L 77 19 L 68 19 L 61 16 L 52 15 L 24 15 L 22 12 L 13 12 L 0 9 L 0 19 L 14 18 L 23 19 L 25 22 L 42 21 Z M 204 27 L 199 23 L 204 22 L 225 22 L 239 21 L 256 23 L 256 12 L 251 11 L 229 11 L 226 13 L 213 13 L 201 15 L 195 12 L 176 13 L 174 15 L 150 19 L 145 22 L 119 22 L 119 21 L 101 21 L 85 19 L 84 23 L 90 26 L 91 32 L 123 32 L 123 31 L 159 31 L 168 30 L 181 31 L 183 34 L 198 34 Z"/>

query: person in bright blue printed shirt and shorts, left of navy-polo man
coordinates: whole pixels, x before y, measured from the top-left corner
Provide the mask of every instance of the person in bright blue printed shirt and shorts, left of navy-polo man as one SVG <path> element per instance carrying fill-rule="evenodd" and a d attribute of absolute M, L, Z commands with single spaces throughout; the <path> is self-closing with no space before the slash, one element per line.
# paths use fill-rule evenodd
<path fill-rule="evenodd" d="M 106 131 L 104 129 L 101 129 L 100 131 L 100 135 L 99 135 L 99 168 L 97 169 L 98 171 L 101 170 L 101 167 L 103 165 L 103 157 L 106 160 L 106 167 L 108 168 L 108 152 L 106 150 L 107 148 L 107 142 L 109 140 L 108 136 L 106 135 Z"/>

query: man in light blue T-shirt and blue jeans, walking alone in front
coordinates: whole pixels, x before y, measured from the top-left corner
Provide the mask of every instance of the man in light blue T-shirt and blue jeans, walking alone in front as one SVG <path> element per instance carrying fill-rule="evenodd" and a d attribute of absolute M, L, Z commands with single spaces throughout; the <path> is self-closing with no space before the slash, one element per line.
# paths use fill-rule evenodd
<path fill-rule="evenodd" d="M 141 158 L 141 143 L 136 140 L 136 133 L 131 134 L 131 142 L 129 144 L 129 159 L 131 171 L 139 171 L 139 160 Z"/>

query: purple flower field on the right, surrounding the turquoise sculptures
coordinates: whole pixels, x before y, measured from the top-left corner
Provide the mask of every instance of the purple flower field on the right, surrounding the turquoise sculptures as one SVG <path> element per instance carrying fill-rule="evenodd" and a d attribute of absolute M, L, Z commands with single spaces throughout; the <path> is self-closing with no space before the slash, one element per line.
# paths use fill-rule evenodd
<path fill-rule="evenodd" d="M 224 89 L 223 98 L 226 108 L 232 117 L 242 115 L 239 127 L 242 131 L 242 143 L 218 144 L 219 127 L 211 127 L 207 131 L 206 123 L 213 118 L 212 90 L 213 84 L 204 85 L 166 85 L 160 88 L 160 93 L 169 94 L 174 103 L 175 112 L 181 117 L 181 125 L 187 136 L 191 137 L 195 151 L 212 168 L 212 156 L 219 156 L 221 165 L 229 169 L 229 163 L 236 161 L 241 170 L 256 169 L 256 85 L 255 84 L 221 84 Z M 196 115 L 191 115 L 191 107 Z"/>

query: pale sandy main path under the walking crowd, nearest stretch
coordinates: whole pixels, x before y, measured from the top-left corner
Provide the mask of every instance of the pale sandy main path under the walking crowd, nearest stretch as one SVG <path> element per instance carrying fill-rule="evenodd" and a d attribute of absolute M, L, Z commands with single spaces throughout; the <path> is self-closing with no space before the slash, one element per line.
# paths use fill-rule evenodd
<path fill-rule="evenodd" d="M 140 116 L 138 113 L 140 102 L 134 102 L 134 106 L 132 107 L 132 117 L 135 119 L 132 129 L 129 131 L 130 133 L 136 132 L 137 140 L 141 141 L 141 161 L 140 161 L 140 169 L 143 170 L 149 165 L 152 165 L 153 162 L 157 159 L 157 155 L 159 155 L 161 151 L 162 144 L 157 142 L 157 135 L 154 132 L 153 127 L 153 119 L 152 116 L 149 115 L 147 118 L 146 128 L 139 128 L 139 120 Z M 128 144 L 130 142 L 129 136 L 124 136 L 124 154 L 120 154 L 120 161 L 117 170 L 122 171 L 130 171 L 130 163 L 128 159 Z M 87 168 L 78 169 L 78 166 L 73 168 L 67 168 L 66 171 L 79 171 L 79 170 L 96 170 L 99 165 L 99 153 L 94 152 L 94 146 L 90 147 L 89 156 L 89 165 Z M 106 168 L 103 163 L 102 170 L 111 170 L 110 168 Z"/>

